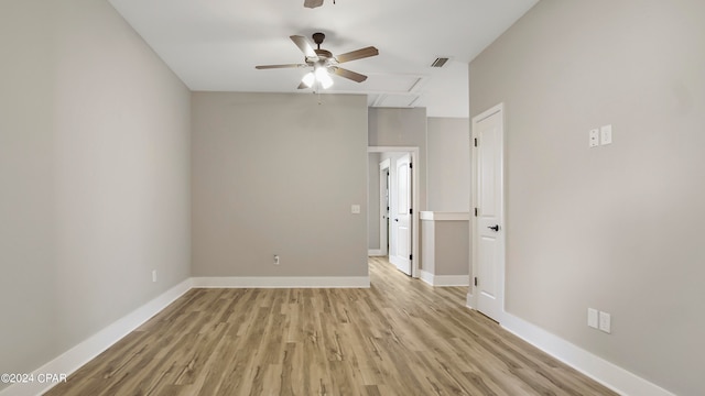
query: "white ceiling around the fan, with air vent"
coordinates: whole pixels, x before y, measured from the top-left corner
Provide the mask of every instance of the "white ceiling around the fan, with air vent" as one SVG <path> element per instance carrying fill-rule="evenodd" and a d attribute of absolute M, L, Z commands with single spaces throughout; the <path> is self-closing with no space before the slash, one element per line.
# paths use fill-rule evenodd
<path fill-rule="evenodd" d="M 372 107 L 425 107 L 468 117 L 468 63 L 538 0 L 109 0 L 192 90 L 302 92 L 304 68 L 290 35 L 323 32 L 341 54 L 373 45 L 379 56 L 346 63 L 364 82 L 334 76 L 330 92 L 367 94 Z M 313 44 L 313 41 L 312 41 Z M 432 68 L 437 57 L 449 57 Z M 303 91 L 311 92 L 311 90 Z"/>

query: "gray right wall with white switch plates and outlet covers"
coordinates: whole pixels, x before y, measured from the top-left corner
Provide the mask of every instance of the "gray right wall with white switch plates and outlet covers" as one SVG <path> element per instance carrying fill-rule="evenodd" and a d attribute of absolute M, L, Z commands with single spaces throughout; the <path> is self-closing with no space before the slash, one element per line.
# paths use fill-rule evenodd
<path fill-rule="evenodd" d="M 471 117 L 506 103 L 507 310 L 679 395 L 705 394 L 703 15 L 543 0 L 469 72 Z"/>

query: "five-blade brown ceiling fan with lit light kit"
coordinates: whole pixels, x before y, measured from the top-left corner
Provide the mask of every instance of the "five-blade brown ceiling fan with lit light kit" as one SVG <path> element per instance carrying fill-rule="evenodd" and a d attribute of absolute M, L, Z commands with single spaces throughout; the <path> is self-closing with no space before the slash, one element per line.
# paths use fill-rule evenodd
<path fill-rule="evenodd" d="M 379 51 L 376 47 L 369 46 L 333 56 L 333 53 L 330 53 L 329 51 L 321 48 L 321 44 L 326 37 L 325 34 L 318 32 L 314 33 L 312 37 L 314 43 L 316 43 L 317 45 L 316 50 L 311 46 L 311 43 L 308 42 L 308 40 L 306 40 L 306 37 L 300 35 L 290 36 L 291 41 L 293 41 L 299 50 L 304 53 L 304 63 L 286 65 L 262 65 L 254 66 L 254 68 L 271 69 L 312 67 L 313 70 L 304 76 L 304 78 L 301 80 L 301 84 L 299 85 L 299 89 L 311 88 L 316 84 L 318 84 L 323 89 L 327 89 L 333 85 L 330 74 L 335 74 L 356 82 L 362 82 L 367 79 L 367 76 L 339 67 L 339 64 L 379 55 Z"/>

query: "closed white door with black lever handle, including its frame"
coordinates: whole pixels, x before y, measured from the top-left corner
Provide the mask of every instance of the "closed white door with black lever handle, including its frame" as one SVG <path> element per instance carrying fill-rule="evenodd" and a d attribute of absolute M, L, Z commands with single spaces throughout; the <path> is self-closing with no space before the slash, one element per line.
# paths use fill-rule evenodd
<path fill-rule="evenodd" d="M 475 148 L 475 294 L 477 309 L 499 321 L 503 312 L 503 123 L 502 107 L 473 119 Z"/>

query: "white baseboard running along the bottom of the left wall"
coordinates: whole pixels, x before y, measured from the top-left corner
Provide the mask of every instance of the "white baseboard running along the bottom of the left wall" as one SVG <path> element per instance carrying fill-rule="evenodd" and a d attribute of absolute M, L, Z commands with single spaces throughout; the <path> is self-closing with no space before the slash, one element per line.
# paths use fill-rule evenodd
<path fill-rule="evenodd" d="M 191 278 L 180 283 L 171 289 L 163 293 L 161 296 L 144 304 L 140 308 L 133 310 L 127 316 L 118 319 L 112 324 L 109 324 L 105 329 L 98 331 L 96 334 L 87 338 L 76 346 L 62 353 L 51 362 L 36 369 L 33 374 L 34 378 L 39 374 L 52 373 L 52 374 L 72 374 L 90 360 L 98 356 L 108 348 L 112 346 L 120 339 L 132 332 L 142 323 L 148 321 L 154 315 L 162 311 L 175 299 L 183 296 L 192 288 Z M 28 384 L 14 384 L 0 391 L 0 396 L 34 396 L 41 395 L 46 391 L 57 385 L 56 383 L 40 383 L 33 382 Z"/>

